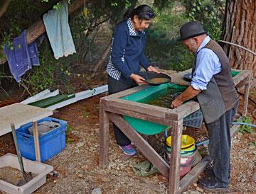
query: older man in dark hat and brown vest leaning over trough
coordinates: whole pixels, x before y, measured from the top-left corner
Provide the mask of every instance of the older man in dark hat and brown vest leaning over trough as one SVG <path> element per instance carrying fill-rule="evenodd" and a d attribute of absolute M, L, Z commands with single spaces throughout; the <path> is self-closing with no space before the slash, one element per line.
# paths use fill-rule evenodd
<path fill-rule="evenodd" d="M 181 40 L 194 57 L 190 86 L 172 103 L 182 105 L 196 96 L 203 112 L 213 159 L 210 177 L 199 185 L 211 191 L 224 191 L 230 178 L 230 125 L 238 109 L 238 93 L 231 76 L 228 57 L 217 42 L 211 40 L 203 25 L 188 22 L 180 29 Z"/>

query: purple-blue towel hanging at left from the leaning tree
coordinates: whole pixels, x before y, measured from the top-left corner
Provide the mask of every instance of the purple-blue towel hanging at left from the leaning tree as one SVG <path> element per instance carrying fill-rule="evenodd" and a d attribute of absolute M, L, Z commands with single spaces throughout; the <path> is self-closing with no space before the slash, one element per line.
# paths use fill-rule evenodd
<path fill-rule="evenodd" d="M 11 74 L 17 82 L 20 82 L 21 76 L 29 69 L 32 69 L 32 65 L 39 65 L 38 47 L 36 42 L 33 42 L 31 45 L 27 44 L 26 30 L 23 30 L 23 33 L 17 38 L 14 38 L 12 47 L 14 49 L 4 45 L 4 51 Z"/>

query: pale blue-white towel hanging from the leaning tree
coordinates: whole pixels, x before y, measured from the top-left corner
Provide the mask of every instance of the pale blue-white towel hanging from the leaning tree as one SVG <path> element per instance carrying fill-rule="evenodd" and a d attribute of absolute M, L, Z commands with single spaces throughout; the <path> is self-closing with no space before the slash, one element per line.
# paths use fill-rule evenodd
<path fill-rule="evenodd" d="M 66 0 L 60 2 L 60 10 L 53 9 L 44 14 L 43 22 L 56 59 L 75 53 L 75 45 L 68 25 Z"/>

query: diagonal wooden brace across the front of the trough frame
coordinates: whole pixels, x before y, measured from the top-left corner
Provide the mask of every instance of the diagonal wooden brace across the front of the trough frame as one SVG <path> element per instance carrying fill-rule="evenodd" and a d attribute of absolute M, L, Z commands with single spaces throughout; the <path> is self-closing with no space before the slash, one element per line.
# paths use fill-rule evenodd
<path fill-rule="evenodd" d="M 109 113 L 110 120 L 136 145 L 136 147 L 146 156 L 149 161 L 156 166 L 156 169 L 166 178 L 169 177 L 169 165 L 161 156 L 149 145 L 146 140 L 139 135 L 121 115 Z"/>

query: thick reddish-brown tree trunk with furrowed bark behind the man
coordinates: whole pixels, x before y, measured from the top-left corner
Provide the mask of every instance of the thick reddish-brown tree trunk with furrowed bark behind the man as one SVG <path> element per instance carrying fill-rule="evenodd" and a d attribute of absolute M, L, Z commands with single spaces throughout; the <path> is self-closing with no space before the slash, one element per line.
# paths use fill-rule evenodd
<path fill-rule="evenodd" d="M 256 1 L 227 0 L 222 40 L 233 42 L 255 52 L 256 47 Z M 235 30 L 233 28 L 235 27 Z M 232 38 L 233 37 L 233 38 Z M 232 39 L 232 40 L 231 40 Z M 256 56 L 239 47 L 224 45 L 234 69 L 252 69 L 256 77 Z"/>

